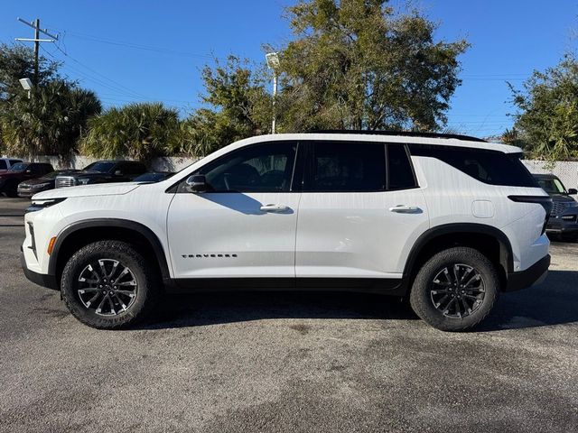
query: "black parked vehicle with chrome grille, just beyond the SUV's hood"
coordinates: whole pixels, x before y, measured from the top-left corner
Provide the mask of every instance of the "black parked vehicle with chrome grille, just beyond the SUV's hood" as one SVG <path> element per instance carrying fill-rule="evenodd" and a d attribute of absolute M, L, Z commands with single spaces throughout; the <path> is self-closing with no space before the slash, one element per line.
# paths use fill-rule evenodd
<path fill-rule="evenodd" d="M 145 172 L 146 167 L 142 162 L 96 161 L 77 173 L 57 176 L 56 188 L 95 183 L 130 182 Z"/>

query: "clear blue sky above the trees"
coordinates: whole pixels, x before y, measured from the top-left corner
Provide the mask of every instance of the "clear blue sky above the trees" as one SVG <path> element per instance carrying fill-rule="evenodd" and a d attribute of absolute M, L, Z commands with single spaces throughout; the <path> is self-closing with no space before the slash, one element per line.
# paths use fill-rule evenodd
<path fill-rule="evenodd" d="M 296 0 L 295 0 L 296 1 Z M 393 5 L 400 4 L 393 1 Z M 200 69 L 236 54 L 264 60 L 263 43 L 291 38 L 283 17 L 294 0 L 51 2 L 2 0 L 0 41 L 32 38 L 17 21 L 35 18 L 59 34 L 41 53 L 64 62 L 62 72 L 96 91 L 104 106 L 163 101 L 186 116 L 200 106 Z M 571 0 L 417 0 L 439 27 L 437 41 L 465 38 L 461 87 L 447 126 L 486 137 L 511 127 L 515 112 L 506 81 L 521 88 L 533 70 L 555 66 L 578 41 L 578 2 Z M 32 46 L 32 44 L 30 44 Z"/>

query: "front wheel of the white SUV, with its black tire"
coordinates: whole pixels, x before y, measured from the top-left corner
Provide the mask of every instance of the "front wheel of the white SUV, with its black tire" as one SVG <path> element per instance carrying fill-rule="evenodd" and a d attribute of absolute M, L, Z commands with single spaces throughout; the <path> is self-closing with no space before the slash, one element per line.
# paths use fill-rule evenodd
<path fill-rule="evenodd" d="M 101 272 L 100 270 L 98 270 L 98 274 L 97 272 L 92 272 L 100 264 L 99 260 L 105 266 L 107 266 L 107 263 L 117 262 L 118 269 L 125 268 L 128 269 L 128 272 L 121 278 L 118 278 L 118 276 L 122 272 L 117 272 L 117 276 L 114 276 L 113 272 L 111 272 L 111 275 L 113 275 L 112 279 L 103 280 L 102 275 L 106 275 L 112 269 L 112 266 L 108 265 L 107 272 Z M 117 269 L 117 266 L 115 266 L 115 269 Z M 62 298 L 72 315 L 89 327 L 98 329 L 131 327 L 148 316 L 161 292 L 159 276 L 157 272 L 154 272 L 154 269 L 155 267 L 151 263 L 147 263 L 144 256 L 137 253 L 131 244 L 120 241 L 98 241 L 88 244 L 79 249 L 77 253 L 74 253 L 64 266 L 61 277 Z M 89 282 L 79 281 L 80 278 L 84 278 L 83 275 L 85 274 L 83 272 L 89 272 L 87 275 L 93 275 L 98 280 L 96 283 L 90 282 L 90 286 L 94 287 L 86 288 L 84 285 L 88 285 Z M 129 284 L 129 282 L 126 282 L 127 278 L 133 279 L 132 281 L 135 281 L 136 284 L 119 288 L 114 285 L 114 278 L 118 278 L 117 284 L 119 286 Z M 118 282 L 121 279 L 125 279 L 125 282 Z M 132 289 L 133 287 L 134 289 Z M 118 293 L 116 289 L 119 289 Z M 90 292 L 90 297 L 94 293 L 95 297 L 99 294 L 101 298 L 93 302 L 87 301 L 89 290 L 93 290 Z M 111 290 L 109 291 L 110 296 L 102 295 L 107 290 Z M 134 295 L 120 294 L 120 291 L 126 292 L 130 290 L 135 292 Z M 114 294 L 113 291 L 115 291 Z M 80 294 L 81 292 L 83 293 L 82 295 Z M 84 300 L 81 296 L 85 297 Z M 101 300 L 103 302 L 102 310 L 98 313 Z M 96 307 L 97 304 L 98 307 Z M 93 306 L 95 306 L 95 309 L 92 309 Z M 108 309 L 108 314 L 105 314 L 105 309 Z M 117 309 L 120 309 L 120 311 L 117 312 Z M 112 311 L 114 311 L 114 314 Z"/>

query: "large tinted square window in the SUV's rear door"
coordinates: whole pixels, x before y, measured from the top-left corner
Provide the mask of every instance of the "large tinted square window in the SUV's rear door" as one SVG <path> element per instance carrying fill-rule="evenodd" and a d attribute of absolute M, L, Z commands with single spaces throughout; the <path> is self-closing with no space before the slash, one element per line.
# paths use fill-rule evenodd
<path fill-rule="evenodd" d="M 383 143 L 312 143 L 309 191 L 364 192 L 386 189 Z"/>

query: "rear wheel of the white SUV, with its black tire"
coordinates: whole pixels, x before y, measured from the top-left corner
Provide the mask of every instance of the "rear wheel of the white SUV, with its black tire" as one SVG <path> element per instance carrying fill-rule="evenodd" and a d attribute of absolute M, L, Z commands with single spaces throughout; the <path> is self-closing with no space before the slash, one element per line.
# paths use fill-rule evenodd
<path fill-rule="evenodd" d="M 453 273 L 454 266 L 461 276 L 445 277 L 450 270 Z M 466 284 L 470 275 L 476 274 L 476 280 Z M 442 281 L 442 277 L 447 280 Z M 458 282 L 453 284 L 451 281 Z M 444 298 L 446 296 L 449 298 Z M 489 315 L 498 296 L 498 272 L 488 258 L 473 248 L 454 247 L 434 254 L 424 263 L 415 276 L 410 302 L 415 314 L 432 327 L 464 331 L 480 324 Z M 445 302 L 452 305 L 444 307 Z"/>

